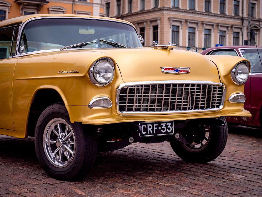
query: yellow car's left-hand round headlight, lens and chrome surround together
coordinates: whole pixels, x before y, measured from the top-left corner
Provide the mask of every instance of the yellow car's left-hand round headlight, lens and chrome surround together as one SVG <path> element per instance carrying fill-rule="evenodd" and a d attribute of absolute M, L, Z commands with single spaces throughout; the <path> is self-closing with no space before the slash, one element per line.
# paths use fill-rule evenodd
<path fill-rule="evenodd" d="M 89 77 L 96 86 L 108 85 L 114 78 L 114 62 L 110 58 L 101 58 L 92 64 Z"/>

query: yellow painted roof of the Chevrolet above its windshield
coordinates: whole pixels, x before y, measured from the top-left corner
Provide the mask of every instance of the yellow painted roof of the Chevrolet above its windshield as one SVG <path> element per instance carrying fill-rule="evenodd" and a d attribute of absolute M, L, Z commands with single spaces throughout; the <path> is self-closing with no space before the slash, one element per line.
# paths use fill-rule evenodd
<path fill-rule="evenodd" d="M 129 23 L 133 26 L 132 23 L 125 21 L 125 20 L 121 20 L 121 19 L 116 19 L 116 18 L 108 18 L 108 17 L 98 17 L 98 16 L 91 16 L 91 15 L 77 15 L 77 14 L 30 14 L 30 15 L 24 15 L 24 16 L 20 16 L 20 17 L 16 17 L 16 18 L 10 18 L 10 19 L 6 19 L 6 20 L 2 20 L 0 22 L 0 28 L 1 27 L 5 27 L 7 25 L 11 25 L 11 24 L 19 24 L 19 23 L 23 23 L 31 18 L 38 18 L 38 17 L 84 17 L 84 18 L 92 18 L 92 19 L 105 19 L 105 20 L 113 20 L 113 21 L 119 21 L 119 22 L 125 22 L 125 23 Z"/>

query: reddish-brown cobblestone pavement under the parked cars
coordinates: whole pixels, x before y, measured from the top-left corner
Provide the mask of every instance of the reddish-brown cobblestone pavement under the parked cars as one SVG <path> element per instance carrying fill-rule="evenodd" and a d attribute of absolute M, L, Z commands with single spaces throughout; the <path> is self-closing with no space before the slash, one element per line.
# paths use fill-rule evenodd
<path fill-rule="evenodd" d="M 168 142 L 134 143 L 99 153 L 78 182 L 48 177 L 34 139 L 0 136 L 0 196 L 262 196 L 262 130 L 234 126 L 225 150 L 208 164 L 186 163 Z"/>

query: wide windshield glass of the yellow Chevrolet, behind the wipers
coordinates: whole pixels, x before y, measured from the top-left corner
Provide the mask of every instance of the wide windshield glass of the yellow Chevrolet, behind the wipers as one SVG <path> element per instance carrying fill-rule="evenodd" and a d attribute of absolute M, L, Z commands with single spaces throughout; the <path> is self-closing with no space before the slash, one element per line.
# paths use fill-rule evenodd
<path fill-rule="evenodd" d="M 113 48 L 106 40 L 129 47 L 142 47 L 136 30 L 128 24 L 81 18 L 46 18 L 26 24 L 20 39 L 20 53 L 61 49 L 92 42 L 77 48 Z"/>

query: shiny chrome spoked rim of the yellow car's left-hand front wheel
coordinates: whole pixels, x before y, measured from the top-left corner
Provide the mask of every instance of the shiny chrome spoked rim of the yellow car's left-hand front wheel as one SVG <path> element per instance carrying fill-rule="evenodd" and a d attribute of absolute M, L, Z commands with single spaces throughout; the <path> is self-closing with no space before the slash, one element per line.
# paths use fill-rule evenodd
<path fill-rule="evenodd" d="M 54 118 L 49 121 L 43 133 L 43 147 L 52 165 L 63 168 L 75 154 L 75 135 L 67 121 Z"/>

